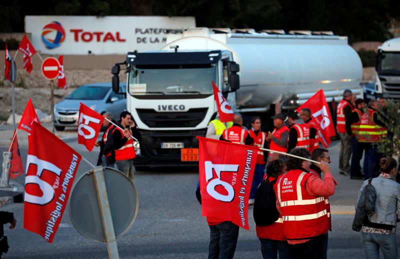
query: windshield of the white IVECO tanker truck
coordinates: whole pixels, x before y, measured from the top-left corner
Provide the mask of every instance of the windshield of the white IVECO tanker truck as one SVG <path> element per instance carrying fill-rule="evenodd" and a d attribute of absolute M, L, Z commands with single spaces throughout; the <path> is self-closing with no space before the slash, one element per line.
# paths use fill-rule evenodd
<path fill-rule="evenodd" d="M 217 66 L 197 65 L 136 65 L 129 72 L 129 93 L 143 94 L 212 94 L 217 83 Z"/>

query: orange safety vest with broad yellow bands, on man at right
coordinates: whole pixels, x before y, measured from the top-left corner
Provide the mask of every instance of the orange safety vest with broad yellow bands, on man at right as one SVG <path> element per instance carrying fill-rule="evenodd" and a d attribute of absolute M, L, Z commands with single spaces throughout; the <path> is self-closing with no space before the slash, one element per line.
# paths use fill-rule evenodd
<path fill-rule="evenodd" d="M 383 136 L 387 136 L 387 130 L 372 121 L 373 113 L 376 110 L 368 108 L 368 112 L 361 115 L 358 141 L 360 142 L 379 142 Z"/>

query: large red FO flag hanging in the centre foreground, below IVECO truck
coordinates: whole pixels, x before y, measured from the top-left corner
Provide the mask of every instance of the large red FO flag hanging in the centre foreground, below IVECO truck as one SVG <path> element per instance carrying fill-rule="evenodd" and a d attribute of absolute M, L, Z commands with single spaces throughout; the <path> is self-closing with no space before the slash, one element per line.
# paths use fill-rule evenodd
<path fill-rule="evenodd" d="M 197 138 L 202 215 L 248 230 L 248 195 L 258 147 Z"/>

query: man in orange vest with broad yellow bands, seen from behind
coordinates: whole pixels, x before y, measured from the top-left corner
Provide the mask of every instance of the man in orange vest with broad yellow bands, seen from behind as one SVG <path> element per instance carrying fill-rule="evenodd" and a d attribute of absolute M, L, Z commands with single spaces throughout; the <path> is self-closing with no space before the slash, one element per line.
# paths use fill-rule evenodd
<path fill-rule="evenodd" d="M 361 115 L 358 131 L 358 141 L 364 144 L 364 180 L 378 175 L 379 167 L 376 166 L 380 155 L 373 144 L 387 136 L 387 130 L 383 122 L 378 119 L 378 101 L 371 99 L 368 102 L 367 112 Z M 377 163 L 379 164 L 379 163 Z"/>

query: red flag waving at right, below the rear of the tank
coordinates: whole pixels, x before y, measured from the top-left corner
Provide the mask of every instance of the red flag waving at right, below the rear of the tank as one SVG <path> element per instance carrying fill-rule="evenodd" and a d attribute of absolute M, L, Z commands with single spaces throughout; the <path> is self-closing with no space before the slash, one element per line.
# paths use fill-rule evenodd
<path fill-rule="evenodd" d="M 311 117 L 315 120 L 319 142 L 326 148 L 330 145 L 330 136 L 334 136 L 332 116 L 330 115 L 329 106 L 326 102 L 325 94 L 320 89 L 311 98 L 304 102 L 296 110 L 302 108 L 309 108 L 311 110 Z"/>

